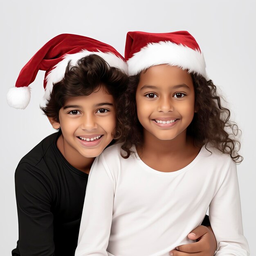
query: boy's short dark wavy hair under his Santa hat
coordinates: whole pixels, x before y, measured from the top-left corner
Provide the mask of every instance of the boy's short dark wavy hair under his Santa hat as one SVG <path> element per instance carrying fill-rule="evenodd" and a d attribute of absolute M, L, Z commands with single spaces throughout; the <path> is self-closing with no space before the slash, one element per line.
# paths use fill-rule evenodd
<path fill-rule="evenodd" d="M 101 87 L 114 97 L 115 108 L 121 108 L 118 104 L 119 97 L 127 88 L 128 76 L 123 70 L 110 67 L 103 58 L 96 54 L 90 54 L 81 58 L 76 66 L 67 65 L 64 78 L 55 83 L 50 99 L 45 107 L 41 107 L 47 117 L 59 121 L 59 110 L 70 97 L 88 96 L 98 91 Z M 121 124 L 117 120 L 117 130 Z M 115 136 L 115 135 L 113 135 Z"/>

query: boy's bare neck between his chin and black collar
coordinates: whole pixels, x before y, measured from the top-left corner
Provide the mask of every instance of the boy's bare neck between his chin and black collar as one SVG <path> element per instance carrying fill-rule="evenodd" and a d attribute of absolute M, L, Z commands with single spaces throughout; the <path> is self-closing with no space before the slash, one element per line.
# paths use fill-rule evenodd
<path fill-rule="evenodd" d="M 78 154 L 78 152 L 72 152 L 71 150 L 67 150 L 62 134 L 57 139 L 57 148 L 58 150 L 60 150 L 63 157 L 65 157 L 70 165 L 80 171 L 83 171 L 84 173 L 90 173 L 90 168 L 92 167 L 92 163 L 95 157 L 84 157 Z"/>

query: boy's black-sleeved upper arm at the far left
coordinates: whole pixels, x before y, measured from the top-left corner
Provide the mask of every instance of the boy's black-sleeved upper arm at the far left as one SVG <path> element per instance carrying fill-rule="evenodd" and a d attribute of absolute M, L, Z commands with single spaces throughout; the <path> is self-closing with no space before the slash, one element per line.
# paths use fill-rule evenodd
<path fill-rule="evenodd" d="M 52 191 L 40 170 L 27 163 L 15 172 L 21 255 L 53 256 L 53 214 L 50 211 Z"/>

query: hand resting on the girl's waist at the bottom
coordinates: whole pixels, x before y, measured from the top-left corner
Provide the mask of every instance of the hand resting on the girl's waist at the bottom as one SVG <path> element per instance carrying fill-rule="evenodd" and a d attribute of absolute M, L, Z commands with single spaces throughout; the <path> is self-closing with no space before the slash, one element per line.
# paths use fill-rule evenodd
<path fill-rule="evenodd" d="M 211 227 L 199 226 L 188 235 L 191 240 L 198 242 L 180 245 L 170 252 L 173 256 L 213 256 L 217 243 Z"/>

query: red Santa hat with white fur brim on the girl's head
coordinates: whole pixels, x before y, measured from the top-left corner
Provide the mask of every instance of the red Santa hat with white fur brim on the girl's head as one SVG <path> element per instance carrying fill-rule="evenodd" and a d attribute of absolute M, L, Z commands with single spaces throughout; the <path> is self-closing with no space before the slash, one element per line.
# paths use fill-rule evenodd
<path fill-rule="evenodd" d="M 125 59 L 130 76 L 154 65 L 168 64 L 207 77 L 204 56 L 195 38 L 187 31 L 128 32 Z"/>

